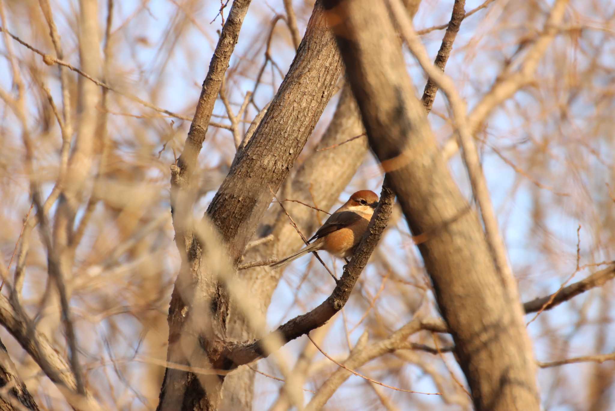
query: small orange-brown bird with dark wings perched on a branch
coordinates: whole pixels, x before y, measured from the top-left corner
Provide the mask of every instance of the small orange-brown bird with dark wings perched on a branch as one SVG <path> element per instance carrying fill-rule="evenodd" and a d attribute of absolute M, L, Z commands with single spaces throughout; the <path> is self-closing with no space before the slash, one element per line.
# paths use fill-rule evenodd
<path fill-rule="evenodd" d="M 376 193 L 370 190 L 357 191 L 350 196 L 346 204 L 331 214 L 309 239 L 308 242 L 315 240 L 312 244 L 269 266 L 278 268 L 318 250 L 325 250 L 339 258 L 351 257 L 367 229 L 376 206 L 378 206 Z"/>

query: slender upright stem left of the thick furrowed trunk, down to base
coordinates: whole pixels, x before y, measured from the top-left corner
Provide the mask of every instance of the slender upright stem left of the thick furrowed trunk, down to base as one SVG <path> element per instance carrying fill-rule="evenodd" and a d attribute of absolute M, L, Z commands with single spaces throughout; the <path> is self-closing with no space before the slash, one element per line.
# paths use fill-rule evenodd
<path fill-rule="evenodd" d="M 207 281 L 200 281 L 202 280 L 200 271 L 202 250 L 194 237 L 194 227 L 191 226 L 190 218 L 194 202 L 194 186 L 196 186 L 192 172 L 205 140 L 213 106 L 239 38 L 248 6 L 250 6 L 250 0 L 235 0 L 231 6 L 203 82 L 184 151 L 178 159 L 177 166 L 171 167 L 171 212 L 173 228 L 175 228 L 175 242 L 181 255 L 181 268 L 173 289 L 167 319 L 169 322 L 167 360 L 178 364 L 207 362 L 207 357 L 201 358 L 202 353 L 197 343 L 197 330 L 190 330 L 191 335 L 186 335 L 184 328 L 186 321 L 191 319 L 191 316 L 186 315 L 188 306 L 195 309 L 200 305 L 202 308 L 208 305 L 213 293 L 217 292 L 216 289 L 212 290 L 212 286 Z M 189 313 L 192 313 L 192 310 Z M 215 321 L 216 319 L 219 318 L 214 318 L 212 321 L 206 317 L 204 328 L 210 335 L 215 333 L 218 337 L 223 337 L 223 321 Z M 217 328 L 216 325 L 218 325 Z M 203 366 L 204 364 L 198 365 Z M 199 380 L 194 373 L 166 369 L 158 409 L 215 409 L 216 404 L 220 401 L 220 384 L 221 381 L 216 376 L 205 376 Z M 210 389 L 210 396 L 205 395 L 203 385 Z"/>

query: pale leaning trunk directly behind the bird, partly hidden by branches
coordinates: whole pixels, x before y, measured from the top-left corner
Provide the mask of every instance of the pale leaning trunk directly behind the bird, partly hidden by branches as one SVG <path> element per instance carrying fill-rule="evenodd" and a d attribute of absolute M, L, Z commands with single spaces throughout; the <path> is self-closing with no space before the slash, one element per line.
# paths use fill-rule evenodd
<path fill-rule="evenodd" d="M 346 188 L 367 153 L 367 138 L 361 137 L 331 150 L 322 150 L 365 132 L 360 119 L 357 103 L 349 86 L 344 86 L 339 97 L 333 119 L 316 150 L 301 164 L 295 175 L 289 176 L 278 194 L 280 199 L 291 198 L 306 204 L 315 204 L 329 210 L 338 201 L 339 194 Z M 314 196 L 312 198 L 312 195 Z M 296 202 L 285 202 L 284 207 L 293 217 L 296 225 L 304 234 L 311 234 L 319 227 L 316 212 Z M 323 215 L 320 216 L 321 218 Z M 326 216 L 325 216 L 326 217 Z M 322 222 L 322 221 L 321 221 Z M 295 228 L 288 224 L 288 217 L 274 206 L 263 218 L 257 231 L 258 237 L 272 234 L 274 241 L 267 242 L 244 254 L 244 261 L 261 261 L 272 256 L 288 255 L 303 245 Z M 267 266 L 239 271 L 242 289 L 258 295 L 258 305 L 253 306 L 255 313 L 266 317 L 271 296 L 277 287 L 283 270 L 272 270 Z M 333 282 L 331 282 L 333 287 Z M 241 310 L 231 304 L 228 317 L 228 337 L 234 341 L 247 341 L 262 337 L 253 331 Z M 252 407 L 254 372 L 240 369 L 225 378 L 223 409 L 249 409 Z"/>

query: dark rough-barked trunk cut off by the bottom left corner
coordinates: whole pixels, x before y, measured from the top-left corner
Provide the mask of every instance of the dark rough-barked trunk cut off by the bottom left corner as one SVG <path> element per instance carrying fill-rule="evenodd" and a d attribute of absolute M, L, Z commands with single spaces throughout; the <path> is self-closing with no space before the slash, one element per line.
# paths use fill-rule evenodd
<path fill-rule="evenodd" d="M 28 388 L 17 375 L 15 364 L 11 361 L 6 347 L 0 341 L 0 411 L 38 410 Z"/>

